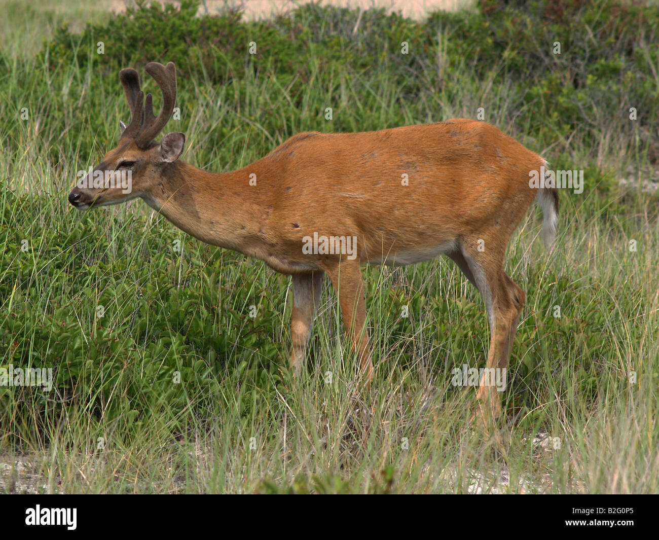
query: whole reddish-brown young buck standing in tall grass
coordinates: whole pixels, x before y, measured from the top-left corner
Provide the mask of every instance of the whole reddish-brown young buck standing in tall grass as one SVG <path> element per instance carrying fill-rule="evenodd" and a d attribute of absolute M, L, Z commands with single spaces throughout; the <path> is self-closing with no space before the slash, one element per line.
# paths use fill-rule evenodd
<path fill-rule="evenodd" d="M 529 187 L 530 173 L 546 165 L 543 158 L 492 125 L 454 119 L 368 133 L 300 133 L 243 169 L 210 173 L 178 159 L 183 133 L 154 140 L 173 112 L 176 70 L 170 62 L 150 63 L 146 71 L 163 94 L 158 117 L 151 94 L 144 102 L 137 72 L 122 70 L 130 124 L 121 123 L 117 148 L 93 171 L 105 183 L 86 187 L 90 175 L 78 181 L 69 195 L 73 206 L 86 210 L 141 197 L 201 241 L 290 274 L 296 372 L 327 274 L 366 384 L 373 366 L 360 266 L 446 255 L 484 298 L 487 367 L 507 367 L 525 300 L 503 271 L 507 244 L 535 198 L 546 242 L 558 222 L 556 189 Z M 124 170 L 132 176 L 130 193 L 107 184 Z M 485 375 L 476 397 L 482 420 L 498 415 L 500 396 Z"/>

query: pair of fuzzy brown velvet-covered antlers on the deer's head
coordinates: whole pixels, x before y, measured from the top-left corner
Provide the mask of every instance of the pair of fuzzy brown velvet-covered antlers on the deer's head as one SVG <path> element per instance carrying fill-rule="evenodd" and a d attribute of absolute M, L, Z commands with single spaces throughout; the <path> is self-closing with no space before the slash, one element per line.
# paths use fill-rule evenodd
<path fill-rule="evenodd" d="M 158 62 L 146 65 L 146 71 L 156 80 L 163 94 L 163 107 L 158 115 L 154 115 L 154 100 L 151 94 L 146 96 L 140 90 L 140 78 L 134 69 L 122 69 L 119 73 L 126 98 L 130 106 L 130 125 L 121 138 L 134 138 L 140 148 L 146 148 L 171 118 L 176 101 L 176 67 L 169 62 L 167 67 Z"/>

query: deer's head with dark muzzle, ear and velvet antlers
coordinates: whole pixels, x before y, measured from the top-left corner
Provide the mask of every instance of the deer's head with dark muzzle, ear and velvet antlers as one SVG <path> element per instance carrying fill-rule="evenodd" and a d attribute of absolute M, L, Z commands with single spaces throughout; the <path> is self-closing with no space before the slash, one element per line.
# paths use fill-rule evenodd
<path fill-rule="evenodd" d="M 144 100 L 140 78 L 134 69 L 119 74 L 130 106 L 128 127 L 121 122 L 119 144 L 103 157 L 103 161 L 89 171 L 79 173 L 69 202 L 78 210 L 92 206 L 118 204 L 142 197 L 151 203 L 150 193 L 158 185 L 165 169 L 175 162 L 185 143 L 183 133 L 168 133 L 161 142 L 154 138 L 169 121 L 176 100 L 176 67 L 157 62 L 146 65 L 146 71 L 156 80 L 163 94 L 163 106 L 156 117 L 151 94 Z"/>

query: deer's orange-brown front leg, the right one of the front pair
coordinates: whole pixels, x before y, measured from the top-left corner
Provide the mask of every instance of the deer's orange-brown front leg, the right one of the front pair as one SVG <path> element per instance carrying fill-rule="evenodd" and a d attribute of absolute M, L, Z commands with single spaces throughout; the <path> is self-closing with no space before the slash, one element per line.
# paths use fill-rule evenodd
<path fill-rule="evenodd" d="M 341 260 L 326 272 L 332 285 L 339 293 L 339 305 L 343 324 L 348 332 L 353 351 L 357 353 L 360 375 L 366 378 L 366 386 L 373 379 L 373 364 L 368 351 L 366 332 L 366 299 L 362 271 L 357 259 Z"/>

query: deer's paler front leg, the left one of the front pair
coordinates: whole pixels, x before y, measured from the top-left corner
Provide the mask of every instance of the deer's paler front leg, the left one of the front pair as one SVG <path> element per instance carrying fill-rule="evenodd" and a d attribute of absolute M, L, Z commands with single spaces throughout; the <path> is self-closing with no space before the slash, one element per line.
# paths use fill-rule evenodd
<path fill-rule="evenodd" d="M 306 345 L 311 335 L 311 327 L 316 315 L 316 308 L 320 303 L 320 289 L 323 283 L 323 272 L 309 272 L 308 274 L 294 274 L 291 276 L 293 284 L 293 316 L 291 317 L 291 367 L 295 375 L 299 375 Z"/>

